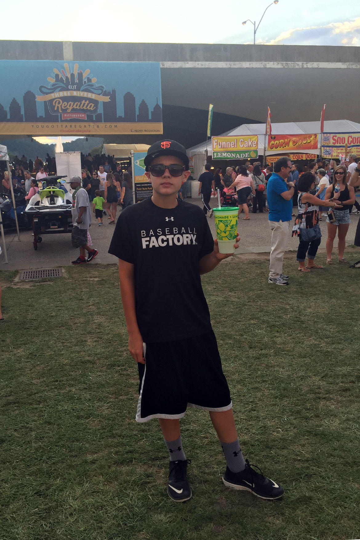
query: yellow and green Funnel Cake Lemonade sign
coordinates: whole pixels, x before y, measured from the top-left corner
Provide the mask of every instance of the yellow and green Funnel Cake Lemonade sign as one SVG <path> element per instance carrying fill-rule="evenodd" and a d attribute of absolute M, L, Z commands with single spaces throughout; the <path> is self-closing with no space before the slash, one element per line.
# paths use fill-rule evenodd
<path fill-rule="evenodd" d="M 213 159 L 257 158 L 257 135 L 212 137 Z"/>

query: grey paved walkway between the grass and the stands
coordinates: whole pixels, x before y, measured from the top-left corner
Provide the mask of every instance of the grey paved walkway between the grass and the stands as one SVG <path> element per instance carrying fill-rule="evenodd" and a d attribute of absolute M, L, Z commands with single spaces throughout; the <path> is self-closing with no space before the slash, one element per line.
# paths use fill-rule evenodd
<path fill-rule="evenodd" d="M 189 203 L 201 205 L 200 199 L 187 199 Z M 217 206 L 215 199 L 210 201 L 211 206 Z M 294 218 L 293 218 L 294 219 Z M 354 243 L 355 230 L 358 215 L 351 216 L 351 224 L 347 235 L 349 244 Z M 214 218 L 208 218 L 210 229 L 215 234 Z M 323 237 L 327 237 L 327 226 L 324 221 L 320 222 Z M 95 222 L 90 227 L 90 234 L 94 247 L 98 249 L 99 254 L 92 264 L 114 264 L 117 259 L 107 253 L 108 246 L 112 237 L 114 225 L 108 225 L 108 219 L 104 216 L 104 225 L 98 227 Z M 237 254 L 242 253 L 269 253 L 270 252 L 270 229 L 268 224 L 268 213 L 252 214 L 250 220 L 239 221 L 240 247 Z M 32 245 L 32 232 L 21 231 L 21 241 L 17 240 L 16 230 L 5 231 L 6 250 L 8 252 L 9 264 L 3 264 L 4 254 L 0 255 L 0 270 L 25 270 L 31 268 L 52 268 L 57 266 L 67 266 L 76 259 L 79 254 L 78 249 L 71 246 L 70 234 L 44 234 L 43 241 L 38 244 L 35 251 Z M 1 238 L 0 238 L 1 242 Z M 335 242 L 336 244 L 336 242 Z M 297 249 L 298 239 L 291 238 L 289 233 L 287 249 Z M 323 246 L 324 247 L 324 241 Z"/>

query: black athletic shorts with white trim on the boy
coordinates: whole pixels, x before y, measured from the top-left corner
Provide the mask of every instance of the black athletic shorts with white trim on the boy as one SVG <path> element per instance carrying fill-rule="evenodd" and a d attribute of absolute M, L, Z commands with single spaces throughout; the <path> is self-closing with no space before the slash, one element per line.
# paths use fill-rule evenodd
<path fill-rule="evenodd" d="M 138 363 L 137 422 L 178 419 L 186 408 L 210 411 L 232 408 L 213 330 L 165 343 L 144 343 L 145 365 Z"/>

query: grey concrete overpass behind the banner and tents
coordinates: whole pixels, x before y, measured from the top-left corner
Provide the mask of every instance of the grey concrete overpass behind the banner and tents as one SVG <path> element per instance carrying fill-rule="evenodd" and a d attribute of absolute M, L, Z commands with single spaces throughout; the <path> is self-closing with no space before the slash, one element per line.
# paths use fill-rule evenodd
<path fill-rule="evenodd" d="M 274 122 L 318 120 L 324 103 L 327 120 L 360 122 L 360 47 L 2 40 L 0 58 L 160 62 L 164 133 L 187 147 L 209 103 L 214 134 L 264 122 L 268 104 Z"/>

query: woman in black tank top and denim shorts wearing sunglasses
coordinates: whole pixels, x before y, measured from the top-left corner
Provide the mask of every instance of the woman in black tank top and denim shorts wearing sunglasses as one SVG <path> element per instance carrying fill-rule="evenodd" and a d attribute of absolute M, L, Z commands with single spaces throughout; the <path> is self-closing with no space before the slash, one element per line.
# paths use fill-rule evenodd
<path fill-rule="evenodd" d="M 331 252 L 334 246 L 334 240 L 337 230 L 337 247 L 338 247 L 338 260 L 339 262 L 348 262 L 344 258 L 345 250 L 345 238 L 350 225 L 349 207 L 355 203 L 355 190 L 354 187 L 349 186 L 346 181 L 347 170 L 344 165 L 335 167 L 332 184 L 327 188 L 325 193 L 325 199 L 334 200 L 338 203 L 338 206 L 332 210 L 335 215 L 336 221 L 330 222 L 327 218 L 328 224 L 328 239 L 326 241 L 327 252 L 327 265 L 331 265 Z M 336 193 L 336 186 L 339 185 L 340 191 Z"/>

